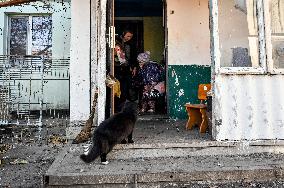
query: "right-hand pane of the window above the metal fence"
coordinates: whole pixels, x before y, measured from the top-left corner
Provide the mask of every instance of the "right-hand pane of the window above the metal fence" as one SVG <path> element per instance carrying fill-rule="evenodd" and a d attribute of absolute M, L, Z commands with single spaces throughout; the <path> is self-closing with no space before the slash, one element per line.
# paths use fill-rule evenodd
<path fill-rule="evenodd" d="M 33 16 L 32 55 L 50 55 L 52 52 L 51 16 Z"/>

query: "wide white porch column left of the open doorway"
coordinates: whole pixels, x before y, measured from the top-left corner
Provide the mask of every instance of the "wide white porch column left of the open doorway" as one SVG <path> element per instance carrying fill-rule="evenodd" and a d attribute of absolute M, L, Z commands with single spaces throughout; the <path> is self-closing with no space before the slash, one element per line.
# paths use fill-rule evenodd
<path fill-rule="evenodd" d="M 90 113 L 90 0 L 71 1 L 70 45 L 69 128 L 87 120 Z M 77 134 L 80 128 L 67 132 L 68 136 Z"/>

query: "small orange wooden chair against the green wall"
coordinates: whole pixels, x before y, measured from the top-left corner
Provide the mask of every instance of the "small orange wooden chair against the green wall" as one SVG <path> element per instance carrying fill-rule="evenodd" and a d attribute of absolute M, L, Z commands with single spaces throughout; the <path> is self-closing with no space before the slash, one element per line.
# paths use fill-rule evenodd
<path fill-rule="evenodd" d="M 200 133 L 205 133 L 208 127 L 208 118 L 206 115 L 207 105 L 204 100 L 207 99 L 207 92 L 211 90 L 211 84 L 199 84 L 198 99 L 200 104 L 185 104 L 188 113 L 186 129 L 192 129 L 194 125 L 199 126 Z"/>

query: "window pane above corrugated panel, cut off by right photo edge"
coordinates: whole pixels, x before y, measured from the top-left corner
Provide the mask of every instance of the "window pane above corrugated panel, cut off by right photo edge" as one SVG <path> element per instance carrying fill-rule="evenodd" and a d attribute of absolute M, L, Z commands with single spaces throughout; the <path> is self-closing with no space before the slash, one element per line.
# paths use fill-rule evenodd
<path fill-rule="evenodd" d="M 272 58 L 275 68 L 284 68 L 284 0 L 270 0 Z"/>

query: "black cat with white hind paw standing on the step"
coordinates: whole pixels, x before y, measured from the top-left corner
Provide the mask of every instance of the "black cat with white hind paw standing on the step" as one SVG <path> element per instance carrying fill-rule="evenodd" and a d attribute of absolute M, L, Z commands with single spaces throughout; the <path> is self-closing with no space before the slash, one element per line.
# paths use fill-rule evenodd
<path fill-rule="evenodd" d="M 108 164 L 106 155 L 118 143 L 134 143 L 132 140 L 132 132 L 134 124 L 137 120 L 137 103 L 127 101 L 121 112 L 114 114 L 110 118 L 103 121 L 93 134 L 93 144 L 88 154 L 82 154 L 80 158 L 90 163 L 98 156 L 101 157 L 103 164 Z"/>

